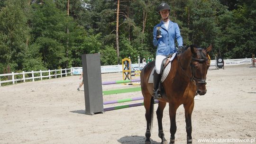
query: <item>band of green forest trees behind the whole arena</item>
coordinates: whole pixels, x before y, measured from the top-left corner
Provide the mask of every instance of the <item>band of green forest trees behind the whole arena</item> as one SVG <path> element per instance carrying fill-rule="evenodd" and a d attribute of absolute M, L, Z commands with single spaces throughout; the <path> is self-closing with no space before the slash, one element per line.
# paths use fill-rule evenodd
<path fill-rule="evenodd" d="M 162 0 L 0 0 L 0 73 L 154 58 L 153 27 Z M 256 53 L 256 0 L 165 0 L 183 44 L 213 45 L 225 59 Z"/>

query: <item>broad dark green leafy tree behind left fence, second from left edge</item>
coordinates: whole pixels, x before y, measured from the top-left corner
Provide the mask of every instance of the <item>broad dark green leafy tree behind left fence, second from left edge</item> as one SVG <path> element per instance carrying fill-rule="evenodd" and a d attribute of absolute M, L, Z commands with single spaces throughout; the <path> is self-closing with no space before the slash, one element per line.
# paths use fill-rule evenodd
<path fill-rule="evenodd" d="M 34 3 L 32 8 L 32 43 L 39 46 L 44 66 L 48 69 L 71 67 L 70 50 L 74 45 L 76 27 L 73 18 L 57 9 L 52 0 Z"/>

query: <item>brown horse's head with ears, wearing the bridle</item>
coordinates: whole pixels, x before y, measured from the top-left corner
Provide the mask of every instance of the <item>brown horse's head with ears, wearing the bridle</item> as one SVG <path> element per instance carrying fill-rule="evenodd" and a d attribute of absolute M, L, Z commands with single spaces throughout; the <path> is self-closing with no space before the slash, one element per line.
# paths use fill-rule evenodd
<path fill-rule="evenodd" d="M 208 68 L 210 67 L 210 56 L 209 52 L 212 49 L 212 45 L 208 48 L 197 48 L 191 45 L 192 60 L 191 60 L 191 70 L 192 77 L 196 82 L 197 93 L 199 95 L 204 95 L 206 93 L 206 74 Z"/>

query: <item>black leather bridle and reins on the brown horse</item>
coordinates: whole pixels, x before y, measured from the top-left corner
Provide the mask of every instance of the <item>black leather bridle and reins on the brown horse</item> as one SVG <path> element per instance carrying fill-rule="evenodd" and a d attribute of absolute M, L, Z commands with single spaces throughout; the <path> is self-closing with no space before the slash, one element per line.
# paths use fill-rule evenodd
<path fill-rule="evenodd" d="M 202 48 L 197 48 L 198 50 L 201 50 Z M 190 81 L 195 81 L 196 83 L 202 83 L 202 84 L 207 84 L 206 82 L 206 79 L 199 79 L 197 77 L 195 77 L 195 71 L 194 71 L 194 67 L 192 66 L 192 62 L 198 62 L 198 63 L 203 63 L 205 61 L 207 61 L 207 59 L 198 59 L 198 58 L 195 58 L 192 56 L 192 59 L 190 61 L 190 68 L 191 68 L 191 72 L 192 72 L 192 76 L 190 77 L 183 69 L 182 65 L 181 65 L 181 62 L 180 62 L 180 59 L 179 59 L 179 56 L 177 55 L 178 57 L 178 61 L 179 61 L 179 64 L 180 64 L 180 67 L 182 69 L 182 71 L 186 74 L 187 77 L 190 78 Z M 208 57 L 208 56 L 207 56 Z"/>

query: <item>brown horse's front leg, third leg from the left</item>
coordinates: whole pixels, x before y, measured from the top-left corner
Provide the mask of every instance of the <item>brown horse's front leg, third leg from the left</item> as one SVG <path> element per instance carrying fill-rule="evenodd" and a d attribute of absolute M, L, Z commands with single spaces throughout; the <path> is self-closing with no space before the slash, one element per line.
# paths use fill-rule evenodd
<path fill-rule="evenodd" d="M 177 108 L 169 103 L 169 116 L 170 116 L 170 121 L 171 121 L 171 127 L 170 127 L 170 133 L 171 133 L 171 139 L 170 139 L 170 144 L 174 144 L 175 142 L 175 133 L 177 130 L 176 126 L 176 111 Z"/>

